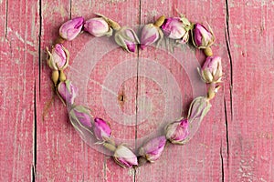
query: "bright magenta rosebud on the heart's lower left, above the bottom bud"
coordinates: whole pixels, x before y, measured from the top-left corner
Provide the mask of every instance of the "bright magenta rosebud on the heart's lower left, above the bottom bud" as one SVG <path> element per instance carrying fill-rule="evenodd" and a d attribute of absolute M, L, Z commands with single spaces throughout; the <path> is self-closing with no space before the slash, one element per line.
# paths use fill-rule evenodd
<path fill-rule="evenodd" d="M 111 126 L 103 119 L 96 117 L 94 119 L 93 133 L 98 140 L 107 141 L 111 137 Z"/>

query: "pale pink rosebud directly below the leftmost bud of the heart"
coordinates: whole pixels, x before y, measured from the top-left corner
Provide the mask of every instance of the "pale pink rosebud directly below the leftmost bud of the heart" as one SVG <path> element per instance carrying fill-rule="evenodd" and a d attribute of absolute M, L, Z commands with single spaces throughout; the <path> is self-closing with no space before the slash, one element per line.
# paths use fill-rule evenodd
<path fill-rule="evenodd" d="M 69 80 L 66 80 L 58 84 L 58 94 L 68 106 L 72 106 L 75 97 L 78 96 L 78 88 L 73 86 Z"/>

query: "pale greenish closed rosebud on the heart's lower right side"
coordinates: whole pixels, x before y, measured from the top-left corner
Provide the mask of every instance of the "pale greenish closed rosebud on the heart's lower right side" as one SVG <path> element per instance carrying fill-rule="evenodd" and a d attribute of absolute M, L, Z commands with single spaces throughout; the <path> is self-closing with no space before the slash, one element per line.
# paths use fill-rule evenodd
<path fill-rule="evenodd" d="M 209 111 L 211 104 L 205 96 L 196 97 L 190 104 L 188 110 L 188 121 L 192 123 L 194 120 L 201 121 Z"/>

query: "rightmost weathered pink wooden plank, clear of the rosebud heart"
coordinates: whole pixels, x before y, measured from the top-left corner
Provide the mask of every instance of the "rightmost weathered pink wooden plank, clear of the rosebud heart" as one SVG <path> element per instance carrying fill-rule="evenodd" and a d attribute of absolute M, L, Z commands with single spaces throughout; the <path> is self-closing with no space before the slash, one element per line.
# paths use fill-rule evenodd
<path fill-rule="evenodd" d="M 228 1 L 233 66 L 229 180 L 273 181 L 273 2 Z"/>

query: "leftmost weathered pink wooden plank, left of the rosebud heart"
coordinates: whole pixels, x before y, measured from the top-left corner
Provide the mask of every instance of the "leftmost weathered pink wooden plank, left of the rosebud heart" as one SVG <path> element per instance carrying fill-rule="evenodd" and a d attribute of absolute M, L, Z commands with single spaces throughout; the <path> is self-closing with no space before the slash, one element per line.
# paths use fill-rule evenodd
<path fill-rule="evenodd" d="M 37 1 L 0 2 L 1 181 L 32 178 L 37 7 Z"/>

